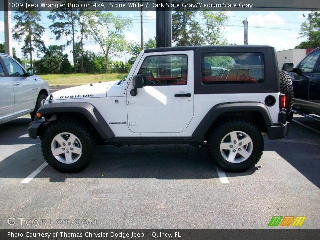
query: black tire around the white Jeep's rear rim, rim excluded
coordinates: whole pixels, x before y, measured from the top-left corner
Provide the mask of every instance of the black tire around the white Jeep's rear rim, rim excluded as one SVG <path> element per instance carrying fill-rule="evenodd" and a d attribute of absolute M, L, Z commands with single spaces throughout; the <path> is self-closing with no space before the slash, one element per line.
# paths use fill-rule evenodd
<path fill-rule="evenodd" d="M 241 163 L 231 163 L 223 158 L 220 144 L 230 132 L 241 131 L 250 136 L 253 142 L 251 155 Z M 227 172 L 243 172 L 252 168 L 263 154 L 264 142 L 259 129 L 251 122 L 244 119 L 230 119 L 216 127 L 209 137 L 209 149 L 214 164 Z"/>

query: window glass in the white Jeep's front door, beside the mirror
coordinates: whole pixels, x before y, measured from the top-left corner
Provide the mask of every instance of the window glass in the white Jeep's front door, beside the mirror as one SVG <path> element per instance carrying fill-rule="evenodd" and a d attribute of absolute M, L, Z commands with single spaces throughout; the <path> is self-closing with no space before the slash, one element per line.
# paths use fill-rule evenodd
<path fill-rule="evenodd" d="M 187 64 L 187 55 L 147 56 L 138 74 L 145 86 L 186 85 Z"/>

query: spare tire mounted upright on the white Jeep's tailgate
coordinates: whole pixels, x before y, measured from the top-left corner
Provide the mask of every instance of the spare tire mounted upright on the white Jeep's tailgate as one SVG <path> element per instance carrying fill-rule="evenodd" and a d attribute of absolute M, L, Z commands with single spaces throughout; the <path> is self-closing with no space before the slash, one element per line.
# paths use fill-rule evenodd
<path fill-rule="evenodd" d="M 290 112 L 293 106 L 293 84 L 286 71 L 279 71 L 280 92 L 286 95 L 286 118 L 290 121 Z M 292 120 L 292 119 L 291 119 Z"/>

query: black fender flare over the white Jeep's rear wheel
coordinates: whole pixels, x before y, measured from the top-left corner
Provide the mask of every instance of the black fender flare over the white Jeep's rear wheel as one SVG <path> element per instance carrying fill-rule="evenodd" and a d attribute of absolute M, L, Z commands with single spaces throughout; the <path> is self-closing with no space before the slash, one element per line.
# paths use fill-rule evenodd
<path fill-rule="evenodd" d="M 260 102 L 229 102 L 212 107 L 194 130 L 192 137 L 203 137 L 215 119 L 222 113 L 253 111 L 262 114 L 266 126 L 272 125 L 272 118 L 266 106 Z"/>

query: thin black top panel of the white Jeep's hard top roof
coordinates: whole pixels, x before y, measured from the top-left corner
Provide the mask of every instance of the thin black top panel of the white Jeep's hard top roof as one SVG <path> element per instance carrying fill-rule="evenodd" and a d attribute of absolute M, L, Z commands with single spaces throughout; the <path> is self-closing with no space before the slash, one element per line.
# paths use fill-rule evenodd
<path fill-rule="evenodd" d="M 174 47 L 158 47 L 145 49 L 144 52 L 164 52 L 164 51 L 192 51 L 192 50 L 214 50 L 222 48 L 237 48 L 237 49 L 246 49 L 246 48 L 273 48 L 272 46 L 264 45 L 222 45 L 222 46 L 174 46 Z"/>

